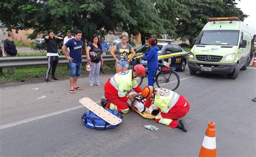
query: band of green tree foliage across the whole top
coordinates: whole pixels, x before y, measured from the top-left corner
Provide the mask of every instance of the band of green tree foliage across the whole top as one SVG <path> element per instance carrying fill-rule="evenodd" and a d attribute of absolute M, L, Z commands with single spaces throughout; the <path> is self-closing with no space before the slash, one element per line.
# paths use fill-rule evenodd
<path fill-rule="evenodd" d="M 35 30 L 29 38 L 54 30 L 82 30 L 83 39 L 108 31 L 126 31 L 142 38 L 168 34 L 192 40 L 210 17 L 247 17 L 232 0 L 49 0 L 46 3 L 0 2 L 0 19 L 11 30 Z M 98 32 L 104 28 L 105 32 Z M 142 44 L 143 44 L 142 39 Z"/>

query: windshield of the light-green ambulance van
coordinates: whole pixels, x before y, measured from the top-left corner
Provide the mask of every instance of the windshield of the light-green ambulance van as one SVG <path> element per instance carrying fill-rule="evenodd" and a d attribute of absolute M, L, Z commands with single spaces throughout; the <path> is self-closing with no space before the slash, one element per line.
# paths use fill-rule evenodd
<path fill-rule="evenodd" d="M 202 31 L 196 45 L 238 45 L 239 31 L 237 30 L 207 30 Z"/>

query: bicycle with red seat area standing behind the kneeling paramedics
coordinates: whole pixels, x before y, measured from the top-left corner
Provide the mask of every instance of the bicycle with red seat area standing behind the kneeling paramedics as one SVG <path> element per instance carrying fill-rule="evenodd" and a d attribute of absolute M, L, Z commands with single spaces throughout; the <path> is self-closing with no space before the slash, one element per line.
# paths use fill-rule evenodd
<path fill-rule="evenodd" d="M 135 65 L 136 64 L 134 64 L 133 67 Z M 147 69 L 145 76 L 147 77 Z M 142 84 L 145 76 L 137 80 L 138 85 Z M 172 68 L 165 66 L 164 63 L 159 63 L 158 70 L 153 75 L 153 82 L 156 83 L 159 88 L 176 90 L 180 83 L 179 74 Z"/>

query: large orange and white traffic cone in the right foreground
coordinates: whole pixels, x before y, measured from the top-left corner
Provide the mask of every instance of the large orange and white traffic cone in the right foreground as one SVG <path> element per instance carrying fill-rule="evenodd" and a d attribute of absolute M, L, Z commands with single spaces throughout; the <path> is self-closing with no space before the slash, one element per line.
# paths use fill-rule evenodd
<path fill-rule="evenodd" d="M 199 157 L 213 157 L 216 153 L 215 123 L 209 122 L 205 132 L 205 138 L 201 146 Z"/>

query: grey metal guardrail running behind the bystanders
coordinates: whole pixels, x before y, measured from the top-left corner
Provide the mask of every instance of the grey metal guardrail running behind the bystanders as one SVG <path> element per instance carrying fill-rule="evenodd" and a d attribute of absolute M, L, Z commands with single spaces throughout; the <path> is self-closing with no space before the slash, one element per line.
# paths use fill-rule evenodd
<path fill-rule="evenodd" d="M 104 55 L 104 61 L 114 61 L 112 55 Z M 86 62 L 86 55 L 82 55 L 82 62 Z M 58 63 L 68 63 L 66 56 L 59 56 Z M 4 67 L 19 67 L 19 66 L 37 66 L 37 65 L 47 65 L 47 56 L 16 56 L 16 57 L 6 57 L 0 58 L 0 68 Z"/>

